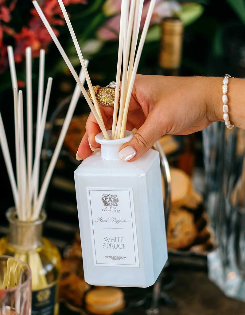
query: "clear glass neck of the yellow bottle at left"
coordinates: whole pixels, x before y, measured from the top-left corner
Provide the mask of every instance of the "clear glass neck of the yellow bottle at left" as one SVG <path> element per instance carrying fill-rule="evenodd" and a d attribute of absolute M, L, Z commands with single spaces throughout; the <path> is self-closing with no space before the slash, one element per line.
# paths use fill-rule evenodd
<path fill-rule="evenodd" d="M 34 250 L 42 246 L 42 228 L 46 214 L 41 212 L 36 221 L 19 221 L 14 208 L 7 211 L 9 221 L 8 243 L 20 251 Z"/>

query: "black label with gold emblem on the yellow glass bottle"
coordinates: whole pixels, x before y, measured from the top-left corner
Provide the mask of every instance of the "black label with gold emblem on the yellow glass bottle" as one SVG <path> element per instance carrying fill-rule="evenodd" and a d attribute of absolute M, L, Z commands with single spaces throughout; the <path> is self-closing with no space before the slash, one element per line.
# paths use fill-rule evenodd
<path fill-rule="evenodd" d="M 57 283 L 50 287 L 32 291 L 31 315 L 53 315 Z"/>

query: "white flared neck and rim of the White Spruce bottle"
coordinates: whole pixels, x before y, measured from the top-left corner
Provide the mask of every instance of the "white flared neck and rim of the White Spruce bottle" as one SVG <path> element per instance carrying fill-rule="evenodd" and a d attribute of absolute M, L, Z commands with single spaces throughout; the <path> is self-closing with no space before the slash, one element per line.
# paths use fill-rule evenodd
<path fill-rule="evenodd" d="M 109 137 L 111 137 L 112 131 L 108 131 Z M 97 143 L 101 144 L 101 157 L 104 160 L 120 160 L 118 153 L 120 150 L 120 147 L 130 141 L 133 137 L 133 134 L 131 131 L 126 130 L 125 137 L 122 139 L 115 139 L 115 140 L 105 140 L 103 137 L 103 134 L 100 133 L 95 136 L 95 140 Z"/>

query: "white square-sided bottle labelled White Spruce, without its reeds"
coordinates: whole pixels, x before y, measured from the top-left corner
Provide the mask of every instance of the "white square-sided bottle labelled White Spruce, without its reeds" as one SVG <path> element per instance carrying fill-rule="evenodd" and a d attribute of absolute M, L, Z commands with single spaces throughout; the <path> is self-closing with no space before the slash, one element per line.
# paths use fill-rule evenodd
<path fill-rule="evenodd" d="M 108 132 L 109 136 L 111 131 Z M 134 162 L 118 157 L 132 139 L 101 144 L 75 170 L 84 276 L 93 285 L 148 287 L 167 260 L 159 153 Z"/>

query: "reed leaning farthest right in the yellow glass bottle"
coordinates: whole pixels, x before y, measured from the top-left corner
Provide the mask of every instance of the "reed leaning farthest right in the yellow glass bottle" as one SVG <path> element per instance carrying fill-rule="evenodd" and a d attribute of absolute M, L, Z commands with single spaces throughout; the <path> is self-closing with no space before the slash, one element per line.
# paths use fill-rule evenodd
<path fill-rule="evenodd" d="M 88 61 L 85 60 L 85 63 L 87 65 Z M 83 84 L 85 82 L 85 75 L 84 75 L 84 72 L 82 70 L 80 72 L 79 78 L 81 80 L 81 81 L 80 80 L 79 81 L 82 82 L 82 84 Z M 47 188 L 48 188 L 51 176 L 53 174 L 54 167 L 55 167 L 56 162 L 58 160 L 59 153 L 60 153 L 61 147 L 63 145 L 64 138 L 65 138 L 65 135 L 67 133 L 67 130 L 69 128 L 70 121 L 71 121 L 71 118 L 73 116 L 76 104 L 77 104 L 77 102 L 79 100 L 79 97 L 81 95 L 80 89 L 81 88 L 80 88 L 79 84 L 76 84 L 74 93 L 72 95 L 72 99 L 70 101 L 69 109 L 67 111 L 67 114 L 66 114 L 66 117 L 65 117 L 65 120 L 64 120 L 62 129 L 61 129 L 61 132 L 60 132 L 57 144 L 56 144 L 56 147 L 55 147 L 55 150 L 53 152 L 52 159 L 50 161 L 50 164 L 49 164 L 48 169 L 47 169 L 47 173 L 46 173 L 45 178 L 44 178 L 43 183 L 42 183 L 42 187 L 41 187 L 41 190 L 40 190 L 40 193 L 39 193 L 39 196 L 38 196 L 36 207 L 34 209 L 34 214 L 33 214 L 33 219 L 34 220 L 38 218 L 39 213 L 40 213 L 40 211 L 42 209 L 42 204 L 44 202 L 44 198 L 45 198 L 45 195 L 46 195 L 46 192 L 47 192 Z"/>

